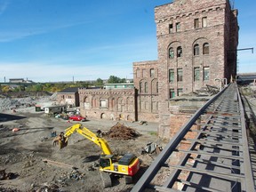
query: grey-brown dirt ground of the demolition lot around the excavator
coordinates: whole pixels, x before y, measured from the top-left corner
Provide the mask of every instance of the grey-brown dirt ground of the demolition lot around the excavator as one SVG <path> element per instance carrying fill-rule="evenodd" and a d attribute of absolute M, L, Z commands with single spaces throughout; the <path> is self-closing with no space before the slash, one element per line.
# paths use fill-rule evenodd
<path fill-rule="evenodd" d="M 92 132 L 108 132 L 117 122 L 89 119 L 83 124 Z M 164 141 L 157 138 L 157 124 L 121 122 L 140 132 L 132 140 L 108 140 L 115 154 L 130 152 L 140 158 L 141 169 L 135 177 L 138 180 L 156 155 L 141 155 L 141 148 L 148 142 L 164 147 Z M 51 132 L 57 134 L 76 122 L 68 123 L 55 117 L 36 112 L 35 107 L 11 110 L 0 114 L 0 170 L 12 176 L 0 180 L 0 191 L 130 191 L 133 184 L 126 185 L 124 178 L 112 178 L 113 187 L 103 188 L 97 164 L 100 148 L 74 133 L 68 140 L 68 147 L 52 147 Z M 20 128 L 19 132 L 12 132 Z M 76 167 L 76 170 L 74 169 Z"/>

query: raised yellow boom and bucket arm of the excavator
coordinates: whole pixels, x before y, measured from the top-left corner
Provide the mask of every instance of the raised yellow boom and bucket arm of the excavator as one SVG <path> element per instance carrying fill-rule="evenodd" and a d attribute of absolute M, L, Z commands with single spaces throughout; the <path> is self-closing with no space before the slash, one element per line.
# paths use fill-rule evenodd
<path fill-rule="evenodd" d="M 65 130 L 64 140 L 61 143 L 62 148 L 66 147 L 68 145 L 68 138 L 74 132 L 77 132 L 77 133 L 83 135 L 86 139 L 91 140 L 93 143 L 98 145 L 101 148 L 103 155 L 112 155 L 113 154 L 111 149 L 108 146 L 107 140 L 104 140 L 103 138 L 98 137 L 94 132 L 91 132 L 86 127 L 82 127 L 82 124 L 74 124 Z M 60 148 L 61 148 L 61 146 L 60 146 Z"/>

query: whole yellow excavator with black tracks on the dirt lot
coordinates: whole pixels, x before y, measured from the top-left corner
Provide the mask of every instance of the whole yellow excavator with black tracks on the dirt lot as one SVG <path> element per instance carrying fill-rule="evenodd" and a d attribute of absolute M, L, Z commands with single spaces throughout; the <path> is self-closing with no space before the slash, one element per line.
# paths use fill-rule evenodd
<path fill-rule="evenodd" d="M 109 173 L 123 175 L 126 184 L 132 183 L 132 177 L 140 169 L 140 160 L 137 156 L 131 153 L 124 154 L 124 156 L 114 155 L 108 146 L 107 140 L 100 137 L 100 134 L 97 135 L 86 127 L 82 127 L 82 124 L 74 124 L 65 130 L 63 139 L 60 140 L 59 143 L 60 148 L 64 148 L 68 145 L 68 138 L 74 132 L 83 135 L 86 139 L 91 140 L 101 148 L 100 176 L 103 180 L 104 187 L 112 186 Z M 106 172 L 108 172 L 108 174 L 106 174 Z"/>

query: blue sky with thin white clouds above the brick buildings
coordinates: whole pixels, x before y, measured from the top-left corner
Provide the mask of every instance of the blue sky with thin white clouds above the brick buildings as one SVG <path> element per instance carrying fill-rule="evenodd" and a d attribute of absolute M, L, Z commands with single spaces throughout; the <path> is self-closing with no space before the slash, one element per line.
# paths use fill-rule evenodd
<path fill-rule="evenodd" d="M 132 62 L 157 60 L 154 8 L 170 2 L 0 0 L 0 82 L 132 78 Z M 240 49 L 255 48 L 255 2 L 235 1 Z M 239 72 L 256 72 L 255 54 L 238 52 Z"/>

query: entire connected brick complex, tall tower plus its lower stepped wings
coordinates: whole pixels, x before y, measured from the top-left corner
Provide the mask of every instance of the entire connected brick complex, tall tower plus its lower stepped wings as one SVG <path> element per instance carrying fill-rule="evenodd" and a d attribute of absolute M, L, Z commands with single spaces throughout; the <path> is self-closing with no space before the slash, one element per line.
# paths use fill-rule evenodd
<path fill-rule="evenodd" d="M 189 116 L 172 113 L 172 98 L 236 76 L 239 28 L 228 0 L 174 0 L 155 8 L 155 21 L 157 60 L 133 63 L 134 89 L 80 89 L 84 115 L 159 122 L 169 137 L 176 117 Z"/>

